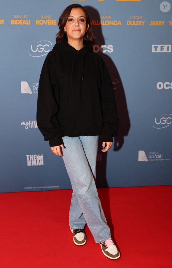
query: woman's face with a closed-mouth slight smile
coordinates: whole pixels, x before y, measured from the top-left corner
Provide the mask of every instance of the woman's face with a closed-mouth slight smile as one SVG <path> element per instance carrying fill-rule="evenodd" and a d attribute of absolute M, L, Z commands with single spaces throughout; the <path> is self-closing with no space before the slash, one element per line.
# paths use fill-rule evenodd
<path fill-rule="evenodd" d="M 67 33 L 68 42 L 70 40 L 81 40 L 88 29 L 86 15 L 82 8 L 72 8 L 64 30 Z"/>

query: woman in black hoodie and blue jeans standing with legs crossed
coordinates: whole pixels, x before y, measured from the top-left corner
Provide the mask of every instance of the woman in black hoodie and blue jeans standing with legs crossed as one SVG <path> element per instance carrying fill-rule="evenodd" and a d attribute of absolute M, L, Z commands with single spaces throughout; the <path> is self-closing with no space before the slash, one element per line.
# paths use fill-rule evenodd
<path fill-rule="evenodd" d="M 119 129 L 111 78 L 101 57 L 93 52 L 85 8 L 70 5 L 58 25 L 56 44 L 40 75 L 37 124 L 51 151 L 63 157 L 71 180 L 69 226 L 74 243 L 86 243 L 87 223 L 103 254 L 117 259 L 120 252 L 112 241 L 94 180 L 98 136 L 103 134 L 102 152 L 107 152 Z"/>

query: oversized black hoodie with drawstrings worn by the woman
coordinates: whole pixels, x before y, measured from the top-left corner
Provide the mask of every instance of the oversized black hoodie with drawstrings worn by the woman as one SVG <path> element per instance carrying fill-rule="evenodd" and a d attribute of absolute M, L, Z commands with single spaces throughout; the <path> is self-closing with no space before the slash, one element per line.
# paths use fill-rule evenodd
<path fill-rule="evenodd" d="M 77 51 L 62 41 L 44 61 L 38 90 L 37 125 L 50 146 L 62 137 L 96 136 L 113 141 L 119 119 L 112 81 L 89 44 Z"/>

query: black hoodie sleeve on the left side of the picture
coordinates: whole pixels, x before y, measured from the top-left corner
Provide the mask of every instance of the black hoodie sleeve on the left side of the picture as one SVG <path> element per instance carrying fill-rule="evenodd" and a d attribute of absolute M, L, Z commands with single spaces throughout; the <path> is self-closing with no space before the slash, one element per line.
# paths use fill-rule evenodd
<path fill-rule="evenodd" d="M 63 144 L 63 131 L 60 130 L 56 118 L 59 106 L 55 99 L 54 89 L 56 88 L 57 91 L 58 83 L 53 81 L 55 78 L 53 78 L 52 62 L 50 59 L 49 53 L 44 61 L 39 79 L 36 120 L 44 140 L 49 141 L 50 146 L 58 146 Z"/>

